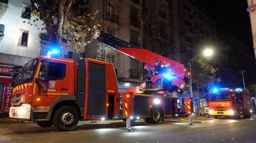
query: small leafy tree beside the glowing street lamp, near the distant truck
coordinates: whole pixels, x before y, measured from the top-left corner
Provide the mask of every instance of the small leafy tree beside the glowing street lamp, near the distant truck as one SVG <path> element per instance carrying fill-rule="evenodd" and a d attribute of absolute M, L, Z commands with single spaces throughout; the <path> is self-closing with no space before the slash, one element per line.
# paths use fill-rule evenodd
<path fill-rule="evenodd" d="M 214 68 L 209 63 L 201 58 L 192 61 L 192 83 L 196 85 L 197 107 L 199 107 L 200 91 L 210 87 L 214 83 L 220 82 L 220 78 L 216 77 L 217 68 Z M 197 110 L 199 113 L 199 110 Z"/>

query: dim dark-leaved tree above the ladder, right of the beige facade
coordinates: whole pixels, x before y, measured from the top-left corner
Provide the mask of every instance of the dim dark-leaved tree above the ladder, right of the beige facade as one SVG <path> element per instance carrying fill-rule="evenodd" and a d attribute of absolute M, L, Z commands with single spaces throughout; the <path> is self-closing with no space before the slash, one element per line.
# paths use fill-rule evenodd
<path fill-rule="evenodd" d="M 169 40 L 169 25 L 163 22 L 156 11 L 161 5 L 159 1 L 147 0 L 141 19 L 143 21 L 143 48 L 163 55 L 166 58 L 173 58 L 174 52 Z M 167 16 L 166 16 L 167 18 Z"/>

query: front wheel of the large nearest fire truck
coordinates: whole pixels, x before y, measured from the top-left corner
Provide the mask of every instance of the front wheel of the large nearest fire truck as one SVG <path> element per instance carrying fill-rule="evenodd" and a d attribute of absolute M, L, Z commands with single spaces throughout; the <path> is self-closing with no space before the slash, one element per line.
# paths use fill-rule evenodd
<path fill-rule="evenodd" d="M 72 106 L 59 108 L 53 116 L 53 125 L 58 131 L 71 131 L 78 123 L 78 112 Z"/>

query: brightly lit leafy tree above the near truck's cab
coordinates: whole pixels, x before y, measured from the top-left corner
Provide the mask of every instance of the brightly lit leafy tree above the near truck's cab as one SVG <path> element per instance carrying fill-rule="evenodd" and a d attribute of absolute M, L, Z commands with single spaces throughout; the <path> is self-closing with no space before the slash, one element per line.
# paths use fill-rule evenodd
<path fill-rule="evenodd" d="M 98 11 L 86 13 L 87 3 L 84 1 L 31 0 L 31 5 L 32 13 L 44 22 L 43 25 L 53 45 L 61 47 L 72 45 L 75 51 L 78 51 L 91 42 L 90 40 L 85 42 L 83 38 L 89 33 L 98 34 L 99 25 L 92 24 Z"/>

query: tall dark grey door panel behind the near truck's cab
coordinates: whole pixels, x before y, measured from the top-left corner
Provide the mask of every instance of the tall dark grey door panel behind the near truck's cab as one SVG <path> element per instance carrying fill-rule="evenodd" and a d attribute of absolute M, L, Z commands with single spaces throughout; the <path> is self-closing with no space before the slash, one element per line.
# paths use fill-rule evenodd
<path fill-rule="evenodd" d="M 84 119 L 107 118 L 106 63 L 86 60 Z"/>

